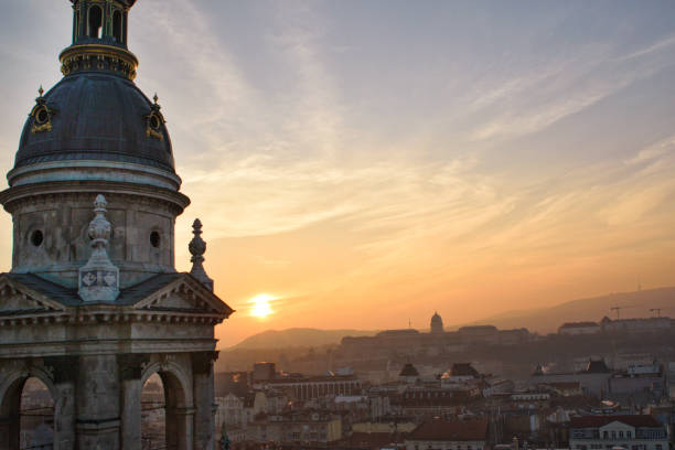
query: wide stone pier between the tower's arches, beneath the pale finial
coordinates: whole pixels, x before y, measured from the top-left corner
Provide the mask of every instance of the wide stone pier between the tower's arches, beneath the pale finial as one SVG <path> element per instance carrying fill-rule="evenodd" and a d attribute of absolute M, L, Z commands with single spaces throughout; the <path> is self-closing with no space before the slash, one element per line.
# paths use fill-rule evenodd
<path fill-rule="evenodd" d="M 76 448 L 120 449 L 120 385 L 116 356 L 81 356 L 75 395 Z"/>

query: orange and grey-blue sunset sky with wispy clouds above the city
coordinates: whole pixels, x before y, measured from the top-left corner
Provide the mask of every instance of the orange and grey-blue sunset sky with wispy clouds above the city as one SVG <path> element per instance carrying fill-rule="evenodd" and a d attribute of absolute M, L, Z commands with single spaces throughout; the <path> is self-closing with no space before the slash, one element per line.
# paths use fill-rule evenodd
<path fill-rule="evenodd" d="M 672 0 L 139 0 L 130 17 L 192 200 L 176 266 L 200 217 L 238 311 L 222 346 L 675 285 Z M 6 173 L 72 10 L 6 1 L 0 21 Z M 9 214 L 0 232 L 9 270 Z"/>

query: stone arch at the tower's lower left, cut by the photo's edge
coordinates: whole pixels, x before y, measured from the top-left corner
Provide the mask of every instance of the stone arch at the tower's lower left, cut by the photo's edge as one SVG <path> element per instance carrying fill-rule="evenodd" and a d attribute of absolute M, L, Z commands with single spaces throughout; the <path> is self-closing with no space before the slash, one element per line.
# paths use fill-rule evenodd
<path fill-rule="evenodd" d="M 21 432 L 21 394 L 29 378 L 44 384 L 54 401 L 54 417 L 60 415 L 58 389 L 49 372 L 41 367 L 28 367 L 11 372 L 0 384 L 0 450 L 18 449 Z M 54 448 L 57 449 L 57 427 L 54 427 Z"/>

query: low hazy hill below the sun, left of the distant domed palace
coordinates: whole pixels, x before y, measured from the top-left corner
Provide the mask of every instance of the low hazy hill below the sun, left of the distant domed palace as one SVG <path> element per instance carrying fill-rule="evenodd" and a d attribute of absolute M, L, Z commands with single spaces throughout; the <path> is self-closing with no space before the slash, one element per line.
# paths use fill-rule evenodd
<path fill-rule="evenodd" d="M 268 330 L 245 339 L 229 350 L 249 349 L 287 349 L 297 346 L 322 346 L 339 344 L 344 336 L 372 336 L 376 331 L 363 330 L 318 330 L 318 329 L 288 329 Z"/>

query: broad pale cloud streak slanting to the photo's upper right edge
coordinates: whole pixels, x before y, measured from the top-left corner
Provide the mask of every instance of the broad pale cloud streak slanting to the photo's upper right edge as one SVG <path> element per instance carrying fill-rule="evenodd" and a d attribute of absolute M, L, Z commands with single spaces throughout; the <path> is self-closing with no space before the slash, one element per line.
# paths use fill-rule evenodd
<path fill-rule="evenodd" d="M 470 101 L 470 110 L 486 118 L 472 131 L 472 140 L 508 139 L 546 129 L 600 100 L 673 66 L 663 51 L 674 38 L 638 52 L 614 57 L 614 49 L 589 45 L 574 57 L 548 61 L 528 73 L 499 81 Z M 652 61 L 647 56 L 653 56 Z M 643 57 L 636 65 L 634 60 Z"/>

